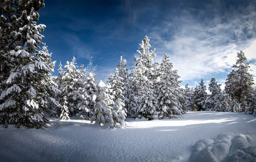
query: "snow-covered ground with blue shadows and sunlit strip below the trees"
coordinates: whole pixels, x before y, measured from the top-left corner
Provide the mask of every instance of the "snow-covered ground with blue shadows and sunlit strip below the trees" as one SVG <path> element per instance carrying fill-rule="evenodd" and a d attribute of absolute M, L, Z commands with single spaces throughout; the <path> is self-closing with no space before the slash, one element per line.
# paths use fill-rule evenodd
<path fill-rule="evenodd" d="M 252 115 L 188 112 L 178 119 L 126 121 L 124 129 L 79 118 L 51 119 L 51 126 L 41 130 L 1 127 L 0 161 L 218 162 L 256 157 Z"/>

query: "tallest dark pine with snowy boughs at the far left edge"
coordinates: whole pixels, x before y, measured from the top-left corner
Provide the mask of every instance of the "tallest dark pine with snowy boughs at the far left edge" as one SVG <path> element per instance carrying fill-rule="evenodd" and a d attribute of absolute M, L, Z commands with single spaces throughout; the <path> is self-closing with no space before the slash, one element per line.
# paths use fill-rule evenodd
<path fill-rule="evenodd" d="M 49 94 L 56 90 L 48 79 L 51 67 L 43 62 L 51 56 L 41 56 L 38 51 L 44 37 L 39 32 L 45 25 L 37 25 L 37 11 L 44 7 L 44 1 L 6 0 L 0 3 L 0 53 L 5 60 L 1 73 L 6 73 L 1 82 L 4 84 L 0 94 L 0 123 L 41 128 L 48 122 L 45 113 L 51 113 L 46 106 Z"/>

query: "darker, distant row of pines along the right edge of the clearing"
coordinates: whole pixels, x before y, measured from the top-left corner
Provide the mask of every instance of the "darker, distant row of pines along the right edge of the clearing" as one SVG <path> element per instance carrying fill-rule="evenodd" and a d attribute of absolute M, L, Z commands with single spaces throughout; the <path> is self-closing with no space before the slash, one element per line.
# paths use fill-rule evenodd
<path fill-rule="evenodd" d="M 224 91 L 216 78 L 211 78 L 209 91 L 206 93 L 206 86 L 203 80 L 198 86 L 189 88 L 186 85 L 184 95 L 187 99 L 187 106 L 191 111 L 230 111 L 256 113 L 256 89 L 252 87 L 253 77 L 249 73 L 249 64 L 243 51 L 237 53 L 237 61 L 232 71 L 227 76 Z"/>

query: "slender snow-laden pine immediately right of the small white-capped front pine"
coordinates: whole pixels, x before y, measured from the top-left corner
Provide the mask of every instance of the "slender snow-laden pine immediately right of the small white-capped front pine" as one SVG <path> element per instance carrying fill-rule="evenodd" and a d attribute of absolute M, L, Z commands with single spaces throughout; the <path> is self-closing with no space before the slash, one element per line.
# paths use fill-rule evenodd
<path fill-rule="evenodd" d="M 112 95 L 115 102 L 112 108 L 112 115 L 115 127 L 122 127 L 126 118 L 126 109 L 123 96 L 123 78 L 119 76 L 119 69 L 115 68 L 115 75 L 112 77 Z"/>

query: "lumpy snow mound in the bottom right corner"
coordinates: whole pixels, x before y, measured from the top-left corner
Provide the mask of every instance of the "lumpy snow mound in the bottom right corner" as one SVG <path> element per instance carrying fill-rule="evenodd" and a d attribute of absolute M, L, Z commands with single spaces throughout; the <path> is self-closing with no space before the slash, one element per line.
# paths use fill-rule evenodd
<path fill-rule="evenodd" d="M 219 134 L 194 144 L 191 162 L 256 162 L 256 145 L 244 134 Z"/>

